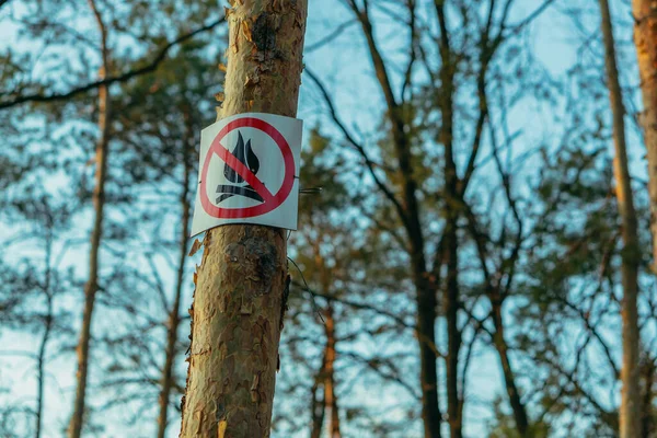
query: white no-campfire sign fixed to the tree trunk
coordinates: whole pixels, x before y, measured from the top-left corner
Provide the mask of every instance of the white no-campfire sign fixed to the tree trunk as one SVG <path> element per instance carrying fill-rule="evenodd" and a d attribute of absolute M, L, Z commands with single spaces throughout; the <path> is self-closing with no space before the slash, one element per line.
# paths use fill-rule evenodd
<path fill-rule="evenodd" d="M 302 125 L 246 113 L 205 128 L 192 235 L 226 223 L 296 230 Z"/>

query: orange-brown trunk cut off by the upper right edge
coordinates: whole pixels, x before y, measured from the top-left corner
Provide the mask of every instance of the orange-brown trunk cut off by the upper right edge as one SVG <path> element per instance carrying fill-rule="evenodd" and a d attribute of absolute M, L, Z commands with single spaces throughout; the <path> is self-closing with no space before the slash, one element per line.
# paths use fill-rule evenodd
<path fill-rule="evenodd" d="M 654 272 L 657 273 L 657 3 L 653 0 L 634 0 L 633 13 L 644 104 L 641 119 L 648 150 L 653 264 Z"/>

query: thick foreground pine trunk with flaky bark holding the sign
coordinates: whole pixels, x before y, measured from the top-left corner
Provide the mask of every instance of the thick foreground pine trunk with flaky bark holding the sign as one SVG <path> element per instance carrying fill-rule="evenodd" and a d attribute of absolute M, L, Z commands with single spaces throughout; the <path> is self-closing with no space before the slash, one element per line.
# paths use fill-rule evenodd
<path fill-rule="evenodd" d="M 306 0 L 232 2 L 221 116 L 296 116 L 307 9 Z M 288 283 L 284 230 L 224 226 L 204 244 L 181 437 L 268 437 Z"/>

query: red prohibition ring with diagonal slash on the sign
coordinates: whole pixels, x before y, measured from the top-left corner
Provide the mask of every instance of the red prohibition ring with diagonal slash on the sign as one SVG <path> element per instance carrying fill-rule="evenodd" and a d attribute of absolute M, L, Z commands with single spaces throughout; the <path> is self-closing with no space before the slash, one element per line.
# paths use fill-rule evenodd
<path fill-rule="evenodd" d="M 253 174 L 244 164 L 221 146 L 221 140 L 233 129 L 238 128 L 255 128 L 260 129 L 276 142 L 278 149 L 283 153 L 283 163 L 285 165 L 285 175 L 283 177 L 283 185 L 276 192 L 272 194 L 267 187 Z M 231 166 L 235 172 L 240 174 L 264 199 L 263 204 L 244 207 L 244 208 L 221 208 L 214 205 L 207 193 L 206 181 L 208 175 L 208 169 L 210 166 L 210 159 L 214 154 L 217 154 L 222 161 Z M 203 209 L 210 216 L 219 219 L 241 219 L 252 218 L 254 216 L 262 216 L 279 207 L 292 192 L 295 185 L 295 157 L 292 150 L 283 136 L 273 125 L 254 117 L 243 117 L 235 120 L 229 122 L 215 137 L 210 149 L 206 155 L 200 172 L 200 204 Z"/>

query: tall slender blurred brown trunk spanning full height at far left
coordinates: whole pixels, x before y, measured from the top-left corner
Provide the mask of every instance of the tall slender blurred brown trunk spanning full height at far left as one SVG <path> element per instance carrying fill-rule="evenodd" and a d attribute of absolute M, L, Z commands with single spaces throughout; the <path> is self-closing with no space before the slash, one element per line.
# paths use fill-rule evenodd
<path fill-rule="evenodd" d="M 101 31 L 101 55 L 102 67 L 99 71 L 99 79 L 105 79 L 108 69 L 107 53 L 107 32 L 101 14 L 96 9 L 94 0 L 89 0 L 89 4 L 95 15 L 97 26 Z M 95 302 L 95 295 L 99 288 L 99 255 L 101 249 L 101 239 L 103 233 L 103 208 L 105 206 L 105 180 L 107 177 L 107 153 L 110 142 L 110 119 L 111 103 L 107 85 L 99 87 L 99 139 L 95 151 L 95 187 L 93 191 L 94 222 L 91 232 L 91 246 L 89 254 L 89 279 L 84 286 L 84 310 L 82 313 L 82 326 L 80 328 L 80 339 L 78 341 L 78 372 L 77 391 L 73 404 L 73 415 L 69 424 L 69 437 L 80 438 L 82 434 L 82 424 L 84 422 L 84 407 L 87 395 L 87 380 L 89 368 L 89 344 L 91 341 L 91 321 Z"/>

